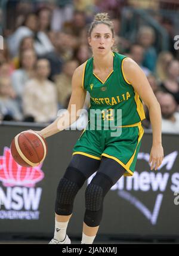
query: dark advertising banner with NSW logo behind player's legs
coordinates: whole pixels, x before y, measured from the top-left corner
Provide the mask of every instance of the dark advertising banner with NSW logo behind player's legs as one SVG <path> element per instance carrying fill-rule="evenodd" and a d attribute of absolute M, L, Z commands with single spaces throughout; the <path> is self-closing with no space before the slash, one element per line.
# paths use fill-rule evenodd
<path fill-rule="evenodd" d="M 63 131 L 48 138 L 45 161 L 38 167 L 25 168 L 12 158 L 10 143 L 18 132 L 26 129 L 41 128 L 0 126 L 0 235 L 49 236 L 54 232 L 58 181 L 81 132 Z M 99 234 L 179 236 L 179 136 L 163 134 L 162 140 L 165 156 L 162 165 L 158 171 L 150 171 L 152 134 L 144 134 L 133 177 L 122 177 L 104 200 Z M 81 236 L 87 183 L 75 199 L 68 227 L 71 236 Z"/>

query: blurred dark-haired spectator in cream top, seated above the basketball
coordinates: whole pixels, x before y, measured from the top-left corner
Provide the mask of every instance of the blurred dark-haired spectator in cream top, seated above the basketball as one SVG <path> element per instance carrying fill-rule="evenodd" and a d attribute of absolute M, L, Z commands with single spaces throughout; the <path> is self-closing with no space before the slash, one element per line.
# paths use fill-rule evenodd
<path fill-rule="evenodd" d="M 24 121 L 51 122 L 57 117 L 57 91 L 47 78 L 50 63 L 42 58 L 36 63 L 36 78 L 26 83 L 23 93 Z"/>

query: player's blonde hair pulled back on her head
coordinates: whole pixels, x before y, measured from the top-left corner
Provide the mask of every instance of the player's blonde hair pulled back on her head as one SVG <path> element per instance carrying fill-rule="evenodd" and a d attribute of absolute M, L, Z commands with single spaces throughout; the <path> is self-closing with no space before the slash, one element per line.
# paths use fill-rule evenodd
<path fill-rule="evenodd" d="M 94 29 L 94 27 L 98 24 L 107 25 L 112 32 L 113 38 L 115 37 L 114 25 L 113 22 L 110 20 L 108 13 L 97 13 L 95 15 L 94 20 L 91 23 L 90 29 L 88 30 L 89 37 L 91 36 L 92 29 Z"/>

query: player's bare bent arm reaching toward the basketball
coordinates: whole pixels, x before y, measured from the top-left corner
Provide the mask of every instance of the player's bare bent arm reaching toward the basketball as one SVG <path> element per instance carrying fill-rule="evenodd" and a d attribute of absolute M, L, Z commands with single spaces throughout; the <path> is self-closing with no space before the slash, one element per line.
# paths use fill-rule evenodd
<path fill-rule="evenodd" d="M 84 90 L 82 85 L 84 65 L 85 63 L 79 66 L 73 73 L 72 95 L 70 97 L 67 112 L 65 112 L 63 116 L 55 119 L 53 124 L 48 125 L 48 127 L 45 127 L 44 129 L 38 132 L 44 138 L 50 137 L 51 135 L 56 134 L 57 132 L 62 131 L 63 129 L 66 129 L 79 118 L 79 115 L 76 115 L 76 113 L 78 113 L 78 110 L 82 109 L 82 107 L 84 106 L 86 97 L 86 91 Z M 72 110 L 74 105 L 76 105 L 76 111 Z"/>

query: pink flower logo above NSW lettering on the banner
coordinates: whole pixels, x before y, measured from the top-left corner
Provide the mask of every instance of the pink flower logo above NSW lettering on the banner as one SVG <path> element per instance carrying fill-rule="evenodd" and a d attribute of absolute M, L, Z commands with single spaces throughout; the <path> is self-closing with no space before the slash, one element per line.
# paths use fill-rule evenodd
<path fill-rule="evenodd" d="M 0 181 L 5 187 L 34 187 L 44 178 L 42 164 L 35 167 L 23 167 L 14 161 L 11 150 L 4 147 L 4 155 L 0 156 Z"/>

